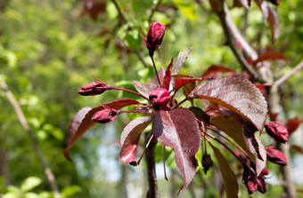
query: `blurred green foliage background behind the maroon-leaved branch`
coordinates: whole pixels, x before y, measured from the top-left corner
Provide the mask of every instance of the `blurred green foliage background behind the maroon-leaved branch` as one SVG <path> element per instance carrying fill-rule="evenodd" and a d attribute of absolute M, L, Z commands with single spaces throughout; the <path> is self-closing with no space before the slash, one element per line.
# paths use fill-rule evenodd
<path fill-rule="evenodd" d="M 147 33 L 151 7 L 157 2 L 119 1 L 127 18 L 127 24 L 123 25 L 112 1 L 100 3 L 94 20 L 90 17 L 94 13 L 86 12 L 85 2 L 80 0 L 0 0 L 0 81 L 8 84 L 19 101 L 38 146 L 53 170 L 62 197 L 145 196 L 144 163 L 134 168 L 119 162 L 120 131 L 133 115 L 120 116 L 118 122 L 106 126 L 96 124 L 71 149 L 73 163 L 63 157 L 62 151 L 66 147 L 70 120 L 78 109 L 132 97 L 120 91 L 79 96 L 79 87 L 94 81 L 92 75 L 131 90 L 135 88 L 130 80 L 146 82 L 153 77 L 152 67 L 144 66 L 151 66 L 151 60 L 140 34 Z M 232 7 L 233 1 L 226 2 Z M 283 64 L 274 61 L 272 65 L 278 78 L 303 58 L 303 2 L 285 0 L 279 6 L 271 6 L 280 21 L 280 37 L 275 44 L 271 43 L 270 29 L 254 3 L 248 12 L 246 37 L 257 51 L 283 51 L 288 61 Z M 225 36 L 209 2 L 184 1 L 182 4 L 182 1 L 163 0 L 159 11 L 154 12 L 151 21 L 165 22 L 167 31 L 155 55 L 157 67 L 168 66 L 179 51 L 186 52 L 192 47 L 182 74 L 198 77 L 212 64 L 241 71 L 232 51 L 225 45 Z M 232 8 L 231 13 L 237 26 L 244 29 L 245 9 Z M 299 71 L 282 87 L 285 120 L 295 116 L 303 118 L 302 79 Z M 291 142 L 302 144 L 302 130 L 296 131 L 295 137 L 298 139 Z M 160 146 L 157 149 L 160 162 L 162 149 Z M 0 91 L 0 156 L 0 197 L 4 194 L 4 197 L 53 197 L 29 136 L 4 91 Z M 292 156 L 300 158 L 295 153 Z M 174 197 L 182 178 L 173 155 L 167 158 L 171 168 L 168 182 L 164 180 L 161 162 L 157 165 L 160 194 Z M 303 161 L 299 160 L 293 162 L 298 171 L 302 168 L 302 163 L 298 163 Z M 268 187 L 267 194 L 256 193 L 253 197 L 282 194 L 282 187 L 274 185 L 278 181 L 275 173 L 279 170 L 274 165 L 270 168 L 273 185 Z M 192 185 L 179 197 L 218 197 L 216 169 L 205 176 L 200 167 Z M 240 195 L 247 197 L 241 178 Z M 303 189 L 302 179 L 296 184 Z"/>

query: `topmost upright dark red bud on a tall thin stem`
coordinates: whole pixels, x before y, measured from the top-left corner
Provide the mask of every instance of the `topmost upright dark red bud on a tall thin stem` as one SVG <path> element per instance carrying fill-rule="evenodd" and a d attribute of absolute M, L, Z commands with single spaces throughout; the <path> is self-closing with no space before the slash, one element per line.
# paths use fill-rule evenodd
<path fill-rule="evenodd" d="M 151 57 L 153 56 L 153 52 L 160 47 L 160 44 L 162 44 L 165 29 L 166 26 L 164 23 L 153 22 L 148 30 L 147 39 L 142 36 Z"/>

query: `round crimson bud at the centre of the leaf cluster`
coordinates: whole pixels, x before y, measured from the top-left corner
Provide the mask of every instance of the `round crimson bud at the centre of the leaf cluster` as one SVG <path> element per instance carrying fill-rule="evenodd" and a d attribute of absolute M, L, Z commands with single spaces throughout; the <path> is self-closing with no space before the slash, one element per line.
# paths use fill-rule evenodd
<path fill-rule="evenodd" d="M 166 107 L 170 100 L 169 92 L 165 88 L 155 88 L 151 91 L 150 99 L 154 105 Z"/>

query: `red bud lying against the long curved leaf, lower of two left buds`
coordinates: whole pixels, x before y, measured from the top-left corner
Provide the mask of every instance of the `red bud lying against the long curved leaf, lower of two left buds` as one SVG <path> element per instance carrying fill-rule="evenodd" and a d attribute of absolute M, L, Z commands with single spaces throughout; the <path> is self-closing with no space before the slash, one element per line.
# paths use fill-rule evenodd
<path fill-rule="evenodd" d="M 116 120 L 119 112 L 116 109 L 103 105 L 105 109 L 94 113 L 92 120 L 98 123 L 112 123 Z"/>

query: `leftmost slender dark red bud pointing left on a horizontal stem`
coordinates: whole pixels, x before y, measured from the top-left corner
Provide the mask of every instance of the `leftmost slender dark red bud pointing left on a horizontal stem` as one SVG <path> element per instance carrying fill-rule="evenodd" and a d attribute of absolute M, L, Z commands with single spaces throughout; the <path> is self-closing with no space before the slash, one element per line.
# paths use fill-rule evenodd
<path fill-rule="evenodd" d="M 94 96 L 102 94 L 102 92 L 111 89 L 111 85 L 108 85 L 107 83 L 102 82 L 102 80 L 99 80 L 91 83 L 86 83 L 86 85 L 82 86 L 79 89 L 78 94 L 82 96 Z"/>

